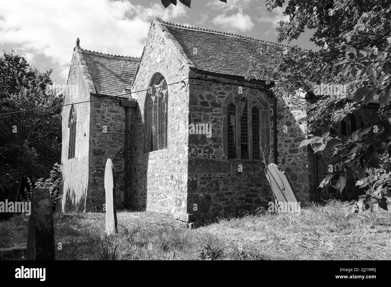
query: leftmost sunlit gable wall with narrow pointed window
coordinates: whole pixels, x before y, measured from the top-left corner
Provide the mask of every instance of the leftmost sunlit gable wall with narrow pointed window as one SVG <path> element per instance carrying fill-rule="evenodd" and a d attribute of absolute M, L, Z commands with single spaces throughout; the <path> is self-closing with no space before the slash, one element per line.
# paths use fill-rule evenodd
<path fill-rule="evenodd" d="M 77 51 L 72 57 L 72 64 L 69 71 L 68 91 L 65 94 L 62 115 L 63 135 L 61 150 L 61 185 L 60 193 L 61 209 L 63 211 L 85 211 L 87 190 L 89 188 L 88 160 L 89 160 L 89 138 L 90 138 L 90 103 L 79 103 L 76 109 L 76 140 L 75 157 L 68 159 L 69 147 L 69 114 L 71 105 L 74 102 L 83 102 L 90 99 L 88 84 L 83 76 L 83 67 Z M 72 93 L 75 91 L 76 93 Z"/>

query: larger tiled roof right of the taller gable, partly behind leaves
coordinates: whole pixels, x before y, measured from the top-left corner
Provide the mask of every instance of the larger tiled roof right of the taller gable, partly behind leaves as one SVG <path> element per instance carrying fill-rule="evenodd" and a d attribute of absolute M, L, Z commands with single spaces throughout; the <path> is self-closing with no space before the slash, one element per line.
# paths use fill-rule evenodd
<path fill-rule="evenodd" d="M 249 68 L 250 57 L 266 63 L 265 56 L 257 53 L 258 48 L 269 47 L 279 54 L 288 46 L 261 41 L 229 33 L 185 27 L 154 18 L 181 46 L 195 70 L 244 77 Z"/>

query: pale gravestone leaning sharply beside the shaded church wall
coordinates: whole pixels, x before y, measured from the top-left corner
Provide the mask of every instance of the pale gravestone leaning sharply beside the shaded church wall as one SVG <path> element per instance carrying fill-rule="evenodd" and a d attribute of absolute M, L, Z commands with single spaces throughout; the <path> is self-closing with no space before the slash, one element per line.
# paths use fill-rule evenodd
<path fill-rule="evenodd" d="M 277 202 L 298 202 L 289 179 L 276 164 L 267 166 L 267 177 Z"/>

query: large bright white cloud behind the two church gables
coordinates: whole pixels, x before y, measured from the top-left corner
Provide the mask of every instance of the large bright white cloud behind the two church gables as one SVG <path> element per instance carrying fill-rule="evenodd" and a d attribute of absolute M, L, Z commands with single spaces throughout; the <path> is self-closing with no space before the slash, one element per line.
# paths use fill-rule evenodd
<path fill-rule="evenodd" d="M 77 37 L 87 50 L 140 57 L 153 16 L 170 21 L 186 15 L 183 5 L 147 8 L 120 0 L 6 3 L 0 9 L 0 44 L 17 46 L 29 59 L 50 58 L 65 79 Z"/>

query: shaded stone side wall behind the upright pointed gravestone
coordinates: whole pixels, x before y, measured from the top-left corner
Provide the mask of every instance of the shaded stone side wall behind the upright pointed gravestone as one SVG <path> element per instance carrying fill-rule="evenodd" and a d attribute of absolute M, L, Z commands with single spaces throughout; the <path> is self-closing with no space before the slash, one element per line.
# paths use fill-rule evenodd
<path fill-rule="evenodd" d="M 91 100 L 97 99 L 91 96 Z M 104 169 L 111 159 L 115 170 L 117 209 L 124 208 L 125 108 L 119 100 L 104 99 L 91 102 L 90 178 L 87 196 L 89 209 L 100 209 L 105 203 Z M 133 152 L 135 139 L 135 109 L 129 108 L 128 191 L 132 193 Z"/>

